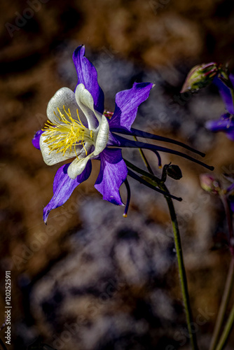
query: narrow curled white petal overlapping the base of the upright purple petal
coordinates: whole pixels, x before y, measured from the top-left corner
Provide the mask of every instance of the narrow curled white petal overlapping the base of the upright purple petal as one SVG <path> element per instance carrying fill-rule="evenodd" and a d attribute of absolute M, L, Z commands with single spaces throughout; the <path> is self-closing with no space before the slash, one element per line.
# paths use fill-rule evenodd
<path fill-rule="evenodd" d="M 92 95 L 85 89 L 83 84 L 77 85 L 75 94 L 76 102 L 88 120 L 88 128 L 90 130 L 97 129 L 98 124 L 101 122 L 102 114 L 95 111 Z"/>

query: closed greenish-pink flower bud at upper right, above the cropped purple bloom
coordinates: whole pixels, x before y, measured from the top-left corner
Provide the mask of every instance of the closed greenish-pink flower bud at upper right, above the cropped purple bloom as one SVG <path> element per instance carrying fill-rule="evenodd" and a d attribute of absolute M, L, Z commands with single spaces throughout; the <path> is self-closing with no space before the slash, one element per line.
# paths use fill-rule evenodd
<path fill-rule="evenodd" d="M 181 93 L 196 91 L 212 83 L 214 76 L 219 72 L 219 66 L 214 62 L 194 66 L 186 77 Z"/>

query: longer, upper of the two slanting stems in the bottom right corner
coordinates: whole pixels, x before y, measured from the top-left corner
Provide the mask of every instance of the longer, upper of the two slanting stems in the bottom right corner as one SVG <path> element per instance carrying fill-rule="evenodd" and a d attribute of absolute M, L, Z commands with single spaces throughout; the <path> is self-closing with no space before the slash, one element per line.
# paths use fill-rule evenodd
<path fill-rule="evenodd" d="M 229 301 L 229 297 L 230 297 L 230 292 L 233 286 L 233 280 L 234 280 L 234 258 L 232 257 L 230 260 L 230 266 L 229 266 L 229 270 L 228 270 L 228 276 L 226 279 L 226 284 L 224 287 L 224 291 L 223 291 L 223 297 L 221 300 L 221 304 L 219 307 L 219 313 L 218 316 L 216 318 L 216 323 L 214 326 L 214 333 L 212 336 L 212 342 L 209 346 L 209 350 L 214 350 L 216 349 L 216 344 L 219 340 L 219 333 L 221 330 L 221 325 L 223 323 L 223 319 L 226 313 L 226 308 L 228 306 L 228 301 Z"/>

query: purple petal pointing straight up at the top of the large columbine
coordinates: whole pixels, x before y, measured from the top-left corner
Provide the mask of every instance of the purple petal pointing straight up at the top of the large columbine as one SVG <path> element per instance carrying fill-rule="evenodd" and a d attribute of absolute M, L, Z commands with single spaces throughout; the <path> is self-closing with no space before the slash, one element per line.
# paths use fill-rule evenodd
<path fill-rule="evenodd" d="M 80 45 L 73 53 L 73 62 L 76 67 L 78 84 L 85 85 L 94 101 L 95 110 L 103 113 L 104 111 L 104 93 L 97 83 L 97 71 L 95 66 L 84 56 L 85 46 Z M 76 85 L 76 86 L 77 86 Z"/>

